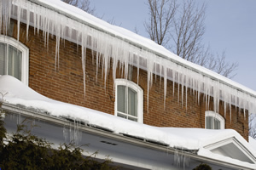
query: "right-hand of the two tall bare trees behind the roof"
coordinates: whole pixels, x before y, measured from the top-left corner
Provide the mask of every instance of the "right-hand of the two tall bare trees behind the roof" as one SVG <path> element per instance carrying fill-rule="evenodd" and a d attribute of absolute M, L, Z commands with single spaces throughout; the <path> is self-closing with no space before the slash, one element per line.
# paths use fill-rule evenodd
<path fill-rule="evenodd" d="M 176 54 L 183 59 L 195 62 L 200 52 L 201 38 L 205 33 L 205 11 L 206 6 L 196 6 L 195 1 L 184 1 L 173 21 L 174 31 L 171 32 L 172 41 Z"/>

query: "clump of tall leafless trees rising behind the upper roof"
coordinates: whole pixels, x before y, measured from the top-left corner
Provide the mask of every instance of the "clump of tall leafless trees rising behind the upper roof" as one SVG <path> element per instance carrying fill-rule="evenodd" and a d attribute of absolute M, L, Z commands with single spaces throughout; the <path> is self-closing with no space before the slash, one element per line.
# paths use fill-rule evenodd
<path fill-rule="evenodd" d="M 224 77 L 234 77 L 237 63 L 229 63 L 222 54 L 205 47 L 206 4 L 195 0 L 177 4 L 176 0 L 148 0 L 149 20 L 144 26 L 149 37 L 175 54 L 195 64 L 207 67 Z"/>

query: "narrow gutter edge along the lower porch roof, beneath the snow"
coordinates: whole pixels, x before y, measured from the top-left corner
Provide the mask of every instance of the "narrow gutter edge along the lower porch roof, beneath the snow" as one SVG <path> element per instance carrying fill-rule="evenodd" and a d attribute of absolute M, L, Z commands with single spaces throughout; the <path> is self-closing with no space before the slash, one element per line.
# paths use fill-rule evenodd
<path fill-rule="evenodd" d="M 68 123 L 70 123 L 69 121 L 67 121 L 64 118 L 60 118 L 60 117 L 56 117 L 56 116 L 49 116 L 47 114 L 43 114 L 43 113 L 40 113 L 37 111 L 31 111 L 24 107 L 20 107 L 18 105 L 11 105 L 8 103 L 2 103 L 0 105 L 0 110 L 6 111 L 9 113 L 13 113 L 13 114 L 20 114 L 22 116 L 26 116 L 26 117 L 29 117 L 32 119 L 39 119 L 44 122 L 50 122 L 50 123 L 54 124 L 55 126 L 63 126 L 63 125 L 67 125 Z M 159 150 L 164 153 L 168 152 L 169 154 L 181 154 L 183 156 L 189 156 L 190 158 L 195 159 L 197 161 L 205 161 L 205 162 L 209 162 L 209 163 L 212 163 L 215 165 L 220 165 L 223 167 L 236 168 L 236 169 L 247 169 L 247 170 L 253 169 L 251 167 L 244 167 L 244 166 L 236 165 L 236 164 L 230 163 L 230 162 L 214 160 L 214 159 L 211 159 L 206 156 L 198 156 L 196 154 L 197 150 L 186 150 L 186 151 L 179 150 L 179 149 L 172 148 L 172 147 L 166 147 L 166 146 L 163 146 L 160 144 L 148 143 L 145 140 L 130 138 L 130 137 L 124 136 L 122 134 L 118 134 L 118 133 L 110 133 L 108 131 L 105 131 L 105 130 L 102 130 L 99 128 L 95 128 L 95 127 L 79 126 L 79 130 L 86 132 L 86 133 L 91 133 L 91 134 L 96 134 L 96 135 L 99 135 L 102 137 L 107 137 L 108 139 L 114 139 L 114 140 L 123 141 L 125 143 L 134 144 L 139 147 L 148 148 L 151 150 Z"/>

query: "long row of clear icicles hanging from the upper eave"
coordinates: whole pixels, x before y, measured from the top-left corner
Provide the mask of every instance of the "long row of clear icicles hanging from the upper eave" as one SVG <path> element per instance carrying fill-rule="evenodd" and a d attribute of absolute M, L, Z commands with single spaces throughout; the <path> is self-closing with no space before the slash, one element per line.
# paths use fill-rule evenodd
<path fill-rule="evenodd" d="M 67 39 L 81 45 L 84 92 L 86 48 L 91 48 L 94 51 L 93 54 L 96 55 L 96 75 L 98 67 L 102 66 L 104 71 L 102 78 L 104 78 L 105 82 L 108 78 L 111 62 L 113 62 L 113 79 L 116 77 L 118 67 L 121 71 L 124 71 L 125 78 L 128 78 L 129 67 L 135 65 L 148 71 L 148 94 L 153 82 L 153 73 L 155 73 L 160 77 L 164 77 L 163 95 L 165 99 L 167 80 L 171 80 L 173 83 L 172 94 L 174 96 L 177 93 L 177 98 L 182 105 L 184 101 L 187 105 L 187 93 L 188 88 L 190 88 L 193 94 L 197 95 L 198 103 L 201 101 L 201 94 L 204 94 L 207 108 L 209 108 L 210 98 L 212 97 L 214 111 L 218 112 L 219 102 L 222 100 L 224 101 L 224 114 L 226 114 L 227 110 L 231 112 L 231 105 L 243 109 L 244 114 L 246 110 L 249 113 L 256 113 L 256 94 L 246 88 L 234 86 L 223 78 L 201 71 L 201 69 L 198 69 L 199 66 L 188 65 L 187 62 L 174 58 L 174 54 L 160 54 L 159 51 L 154 51 L 154 48 L 149 47 L 148 44 L 136 42 L 136 38 L 132 42 L 132 40 L 128 40 L 125 36 L 122 37 L 115 31 L 106 31 L 94 25 L 94 21 L 90 23 L 90 20 L 76 18 L 76 16 L 67 14 L 61 8 L 56 8 L 57 12 L 55 12 L 53 10 L 54 7 L 49 7 L 49 5 L 40 1 L 38 3 L 33 2 L 36 2 L 36 0 L 2 0 L 0 2 L 0 28 L 3 30 L 1 31 L 4 35 L 7 35 L 9 20 L 13 17 L 17 20 L 18 40 L 21 22 L 26 24 L 26 38 L 28 38 L 29 26 L 34 27 L 35 34 L 39 33 L 39 30 L 43 31 L 46 45 L 48 45 L 49 34 L 55 35 L 56 66 L 58 66 L 58 60 L 61 57 L 59 56 L 61 40 Z M 11 10 L 13 11 L 11 12 Z M 135 37 L 137 35 L 132 36 Z M 137 70 L 137 79 L 138 77 L 139 70 Z M 177 88 L 175 88 L 175 83 L 177 83 Z M 181 96 L 179 90 L 181 90 Z"/>

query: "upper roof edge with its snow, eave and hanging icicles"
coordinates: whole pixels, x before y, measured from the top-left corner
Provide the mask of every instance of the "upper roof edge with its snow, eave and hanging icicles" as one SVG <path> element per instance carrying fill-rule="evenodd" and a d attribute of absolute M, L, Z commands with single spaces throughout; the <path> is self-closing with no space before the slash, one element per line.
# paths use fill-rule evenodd
<path fill-rule="evenodd" d="M 18 28 L 20 22 L 23 22 L 26 23 L 27 29 L 33 26 L 37 31 L 42 30 L 46 42 L 49 34 L 54 34 L 56 58 L 61 57 L 58 50 L 60 38 L 64 38 L 82 46 L 83 66 L 86 48 L 91 48 L 95 51 L 96 57 L 104 56 L 102 66 L 105 71 L 108 71 L 110 58 L 113 59 L 113 77 L 118 61 L 126 69 L 132 64 L 148 71 L 148 91 L 152 74 L 155 73 L 164 77 L 164 82 L 169 79 L 186 89 L 192 88 L 199 93 L 211 95 L 217 112 L 221 99 L 225 107 L 236 105 L 244 109 L 244 114 L 245 110 L 256 113 L 256 92 L 253 90 L 200 65 L 181 59 L 155 42 L 119 26 L 112 26 L 79 8 L 59 0 L 3 0 L 1 6 L 3 8 L 0 8 L 0 20 L 3 20 L 3 28 L 9 25 L 9 18 L 14 18 L 18 21 Z M 10 12 L 13 9 L 15 11 Z M 128 71 L 125 74 L 128 74 Z M 187 90 L 183 93 L 187 93 Z M 187 102 L 186 99 L 183 100 Z"/>

